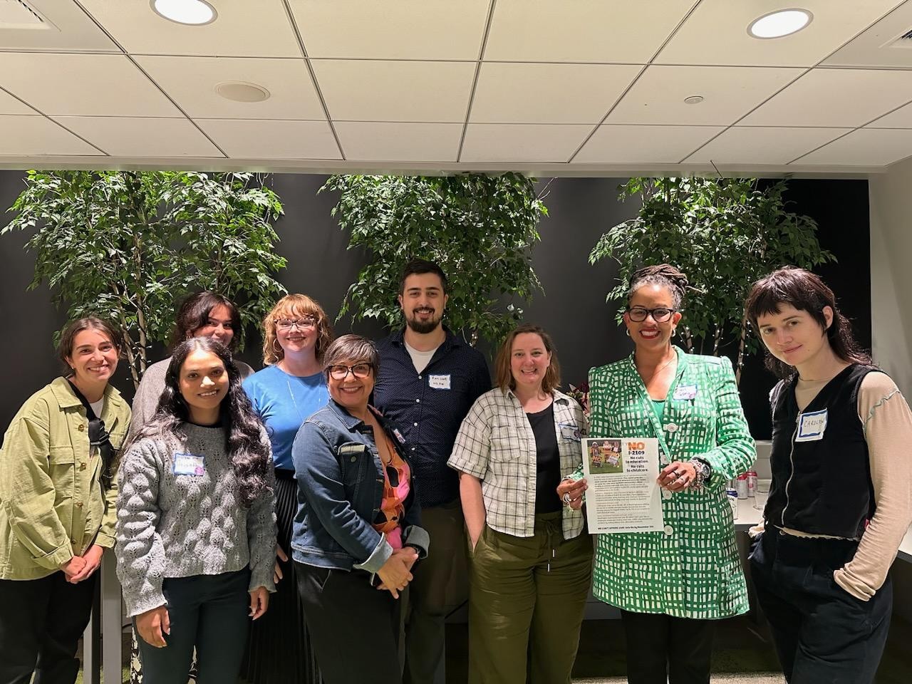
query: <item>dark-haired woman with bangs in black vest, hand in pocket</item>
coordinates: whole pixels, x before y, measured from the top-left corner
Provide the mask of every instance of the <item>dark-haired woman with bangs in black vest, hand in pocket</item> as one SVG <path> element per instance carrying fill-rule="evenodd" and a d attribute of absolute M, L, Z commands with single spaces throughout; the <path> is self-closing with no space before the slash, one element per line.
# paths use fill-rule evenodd
<path fill-rule="evenodd" d="M 893 604 L 886 574 L 912 522 L 912 413 L 816 275 L 775 271 L 746 308 L 782 378 L 751 575 L 785 679 L 873 682 Z"/>

